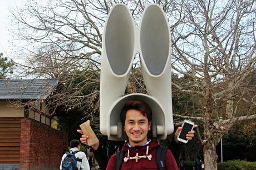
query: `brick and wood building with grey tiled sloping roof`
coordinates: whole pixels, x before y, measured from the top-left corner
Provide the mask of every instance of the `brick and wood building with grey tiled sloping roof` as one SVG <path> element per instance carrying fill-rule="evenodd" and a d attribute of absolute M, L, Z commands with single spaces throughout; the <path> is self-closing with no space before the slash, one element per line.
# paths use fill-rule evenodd
<path fill-rule="evenodd" d="M 52 128 L 47 107 L 57 85 L 56 79 L 0 79 L 0 169 L 59 169 L 68 138 Z"/>

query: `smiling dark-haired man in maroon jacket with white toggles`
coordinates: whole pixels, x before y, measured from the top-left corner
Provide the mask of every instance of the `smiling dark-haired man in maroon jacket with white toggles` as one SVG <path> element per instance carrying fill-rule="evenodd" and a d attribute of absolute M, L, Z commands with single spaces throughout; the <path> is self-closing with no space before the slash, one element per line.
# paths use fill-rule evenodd
<path fill-rule="evenodd" d="M 107 170 L 114 169 L 160 169 L 157 165 L 157 148 L 160 147 L 155 139 L 147 138 L 151 128 L 152 111 L 147 103 L 129 101 L 122 108 L 120 119 L 128 141 L 122 147 L 124 155 L 114 154 L 107 164 Z M 120 168 L 118 160 L 121 160 Z M 163 163 L 164 162 L 164 163 Z M 164 169 L 178 170 L 178 166 L 170 150 L 166 150 L 165 160 L 161 162 Z"/>

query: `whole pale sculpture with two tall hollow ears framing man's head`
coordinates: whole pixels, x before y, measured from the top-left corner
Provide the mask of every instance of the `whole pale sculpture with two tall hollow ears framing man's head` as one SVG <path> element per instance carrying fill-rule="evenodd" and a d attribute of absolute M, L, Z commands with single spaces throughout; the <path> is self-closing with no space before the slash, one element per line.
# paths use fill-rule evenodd
<path fill-rule="evenodd" d="M 122 140 L 117 132 L 120 108 L 131 98 L 153 103 L 153 117 L 161 139 L 173 132 L 171 106 L 170 30 L 163 9 L 157 4 L 147 6 L 141 24 L 125 4 L 116 4 L 107 17 L 103 41 L 100 79 L 100 131 L 109 139 Z M 142 75 L 147 94 L 124 96 L 132 63 L 140 53 Z M 120 108 L 119 108 L 120 107 Z M 118 137 L 117 137 L 118 136 Z"/>

